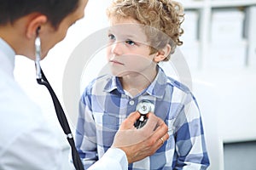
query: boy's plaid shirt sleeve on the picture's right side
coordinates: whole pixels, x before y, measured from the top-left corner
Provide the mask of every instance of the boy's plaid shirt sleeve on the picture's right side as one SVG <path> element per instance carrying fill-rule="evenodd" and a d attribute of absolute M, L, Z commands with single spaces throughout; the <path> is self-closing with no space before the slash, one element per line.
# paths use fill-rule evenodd
<path fill-rule="evenodd" d="M 174 123 L 177 127 L 177 169 L 207 169 L 209 158 L 201 113 L 193 94 L 188 94 Z"/>

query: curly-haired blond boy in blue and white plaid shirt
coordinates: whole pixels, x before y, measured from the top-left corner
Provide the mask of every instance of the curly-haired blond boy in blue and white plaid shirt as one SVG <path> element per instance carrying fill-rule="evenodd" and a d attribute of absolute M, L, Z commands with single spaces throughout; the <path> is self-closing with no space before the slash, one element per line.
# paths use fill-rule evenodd
<path fill-rule="evenodd" d="M 90 82 L 80 101 L 76 145 L 84 167 L 102 157 L 121 122 L 146 100 L 154 105 L 152 112 L 166 122 L 170 138 L 155 141 L 162 143 L 160 149 L 130 163 L 129 169 L 207 169 L 209 159 L 195 97 L 158 65 L 168 61 L 183 43 L 179 39 L 182 6 L 171 0 L 113 0 L 107 14 L 111 75 Z"/>

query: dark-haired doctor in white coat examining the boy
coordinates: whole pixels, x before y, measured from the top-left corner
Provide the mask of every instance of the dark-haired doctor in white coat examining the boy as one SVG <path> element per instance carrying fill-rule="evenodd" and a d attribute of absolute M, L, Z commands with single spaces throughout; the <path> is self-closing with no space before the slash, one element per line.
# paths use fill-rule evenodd
<path fill-rule="evenodd" d="M 60 42 L 67 29 L 83 18 L 88 0 L 0 0 L 0 169 L 60 170 L 61 147 L 55 130 L 15 82 L 15 54 L 35 59 L 35 40 L 41 39 L 42 59 Z M 25 65 L 24 65 L 25 66 Z M 24 77 L 26 78 L 26 77 Z M 146 127 L 133 129 L 132 113 L 117 133 L 113 147 L 91 169 L 127 169 L 152 155 L 168 139 L 167 127 L 149 114 Z M 156 130 L 154 130 L 156 128 Z M 143 140 L 122 145 L 122 139 Z"/>

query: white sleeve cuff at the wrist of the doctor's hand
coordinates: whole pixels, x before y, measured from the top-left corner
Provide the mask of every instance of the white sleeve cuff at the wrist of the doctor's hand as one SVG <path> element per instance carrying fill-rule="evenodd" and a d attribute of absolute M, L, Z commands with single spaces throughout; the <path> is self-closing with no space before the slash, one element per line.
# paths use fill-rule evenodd
<path fill-rule="evenodd" d="M 128 161 L 123 150 L 109 148 L 88 170 L 127 170 Z"/>

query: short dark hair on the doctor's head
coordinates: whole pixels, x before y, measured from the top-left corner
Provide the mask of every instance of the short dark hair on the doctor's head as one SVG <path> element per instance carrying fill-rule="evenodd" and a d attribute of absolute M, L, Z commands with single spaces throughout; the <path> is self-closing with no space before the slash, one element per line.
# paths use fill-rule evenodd
<path fill-rule="evenodd" d="M 39 13 L 47 16 L 57 28 L 68 14 L 79 7 L 79 0 L 0 0 L 0 26 L 13 24 L 27 14 Z"/>

